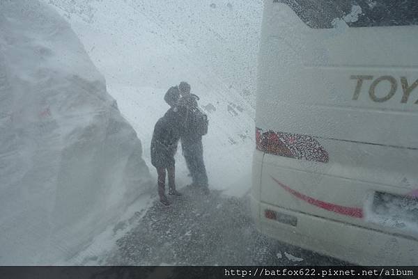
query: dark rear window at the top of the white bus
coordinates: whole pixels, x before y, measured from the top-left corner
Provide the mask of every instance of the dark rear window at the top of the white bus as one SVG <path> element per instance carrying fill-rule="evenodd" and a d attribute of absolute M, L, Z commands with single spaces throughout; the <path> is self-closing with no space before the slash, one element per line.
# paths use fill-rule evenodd
<path fill-rule="evenodd" d="M 418 25 L 417 0 L 273 0 L 286 3 L 311 28 Z"/>

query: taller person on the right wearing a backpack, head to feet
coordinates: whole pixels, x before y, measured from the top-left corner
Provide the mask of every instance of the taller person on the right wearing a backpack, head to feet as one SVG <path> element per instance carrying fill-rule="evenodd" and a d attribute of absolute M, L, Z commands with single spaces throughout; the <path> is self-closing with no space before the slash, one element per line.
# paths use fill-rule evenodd
<path fill-rule="evenodd" d="M 203 131 L 203 133 L 199 131 L 199 128 L 195 125 L 196 118 L 194 118 L 196 112 L 199 112 L 199 106 L 197 104 L 199 97 L 190 93 L 190 86 L 187 82 L 181 82 L 178 90 L 181 96 L 178 100 L 178 105 L 184 106 L 187 109 L 185 130 L 180 137 L 183 156 L 192 176 L 192 185 L 201 186 L 208 193 L 208 175 L 206 174 L 206 167 L 203 161 L 202 144 L 202 136 L 206 134 L 207 130 L 206 132 Z M 204 116 L 206 117 L 206 115 Z"/>

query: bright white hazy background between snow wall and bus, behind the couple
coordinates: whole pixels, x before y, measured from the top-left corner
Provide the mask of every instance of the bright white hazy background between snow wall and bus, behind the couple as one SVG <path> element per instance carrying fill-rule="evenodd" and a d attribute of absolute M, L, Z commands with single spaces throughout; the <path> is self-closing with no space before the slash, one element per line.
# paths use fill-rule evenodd
<path fill-rule="evenodd" d="M 109 94 L 141 138 L 144 160 L 155 182 L 149 150 L 153 127 L 169 109 L 164 93 L 185 80 L 208 113 L 203 157 L 210 188 L 233 196 L 248 191 L 255 147 L 254 109 L 234 84 L 255 86 L 248 74 L 256 70 L 260 1 L 231 0 L 230 6 L 222 1 L 194 0 L 44 1 L 68 18 L 106 77 Z M 69 9 L 70 2 L 77 8 Z M 210 3 L 216 3 L 216 8 L 210 8 Z M 72 10 L 91 10 L 93 17 L 86 21 L 84 13 Z M 236 74 L 237 79 L 228 73 Z M 232 88 L 226 77 L 233 80 Z M 249 90 L 251 93 L 254 91 Z M 179 147 L 179 188 L 191 182 L 188 173 Z"/>

